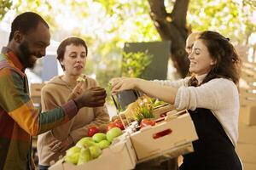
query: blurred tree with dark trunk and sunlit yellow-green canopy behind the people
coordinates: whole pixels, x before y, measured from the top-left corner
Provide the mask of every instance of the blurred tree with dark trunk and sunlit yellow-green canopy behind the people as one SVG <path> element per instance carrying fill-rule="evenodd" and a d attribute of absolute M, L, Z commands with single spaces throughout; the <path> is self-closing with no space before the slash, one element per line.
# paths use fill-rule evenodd
<path fill-rule="evenodd" d="M 97 63 L 93 65 L 89 62 L 88 72 L 97 71 L 97 75 L 116 67 L 125 42 L 171 40 L 172 60 L 177 63 L 177 71 L 184 77 L 188 70 L 184 45 L 191 30 L 219 31 L 230 37 L 231 42 L 255 44 L 252 35 L 256 34 L 256 3 L 253 2 L 252 0 L 5 0 L 1 3 L 0 19 L 9 9 L 21 13 L 29 8 L 41 14 L 49 22 L 55 40 L 60 41 L 69 35 L 84 37 L 90 47 L 90 59 L 93 60 L 91 63 Z M 116 69 L 109 72 L 113 73 L 111 75 L 113 77 L 120 76 Z"/>

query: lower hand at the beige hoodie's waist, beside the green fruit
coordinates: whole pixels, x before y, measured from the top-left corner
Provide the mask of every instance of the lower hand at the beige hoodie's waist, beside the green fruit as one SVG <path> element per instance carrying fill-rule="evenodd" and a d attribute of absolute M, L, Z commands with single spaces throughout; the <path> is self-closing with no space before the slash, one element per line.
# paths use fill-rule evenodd
<path fill-rule="evenodd" d="M 49 148 L 53 152 L 63 152 L 70 148 L 73 144 L 71 139 L 64 139 L 64 140 L 54 140 L 51 144 L 49 144 Z"/>

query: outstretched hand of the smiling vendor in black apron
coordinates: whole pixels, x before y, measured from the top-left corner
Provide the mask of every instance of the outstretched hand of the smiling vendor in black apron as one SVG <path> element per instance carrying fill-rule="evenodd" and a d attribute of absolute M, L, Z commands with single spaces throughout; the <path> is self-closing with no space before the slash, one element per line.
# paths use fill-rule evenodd
<path fill-rule="evenodd" d="M 134 89 L 137 86 L 138 78 L 118 77 L 113 78 L 110 83 L 112 85 L 112 94 L 117 94 L 123 90 Z"/>

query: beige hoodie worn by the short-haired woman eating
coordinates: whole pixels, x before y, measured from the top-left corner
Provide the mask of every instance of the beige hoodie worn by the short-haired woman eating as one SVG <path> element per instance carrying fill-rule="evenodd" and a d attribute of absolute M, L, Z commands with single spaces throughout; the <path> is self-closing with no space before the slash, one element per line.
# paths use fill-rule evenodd
<path fill-rule="evenodd" d="M 69 87 L 67 82 L 64 82 L 61 77 L 52 78 L 42 88 L 42 111 L 49 111 L 67 103 L 67 98 L 74 87 Z M 86 77 L 84 90 L 96 86 L 97 83 L 94 79 Z M 50 150 L 49 144 L 53 140 L 64 140 L 68 138 L 73 140 L 73 144 L 76 144 L 79 139 L 87 136 L 90 126 L 95 125 L 99 127 L 102 124 L 107 124 L 108 121 L 109 116 L 106 106 L 95 108 L 84 107 L 80 109 L 71 121 L 38 136 L 39 164 L 49 166 L 50 161 L 58 161 L 59 156 L 65 155 L 65 152 L 55 153 Z"/>

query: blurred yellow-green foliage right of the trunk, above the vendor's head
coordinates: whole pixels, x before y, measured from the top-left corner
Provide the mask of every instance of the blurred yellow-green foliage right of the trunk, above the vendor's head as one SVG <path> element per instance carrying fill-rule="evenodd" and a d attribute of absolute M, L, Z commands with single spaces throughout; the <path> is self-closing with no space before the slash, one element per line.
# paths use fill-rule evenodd
<path fill-rule="evenodd" d="M 188 24 L 193 31 L 212 30 L 230 37 L 231 42 L 247 44 L 256 31 L 253 23 L 255 3 L 249 0 L 198 1 L 191 0 L 188 10 Z"/>

